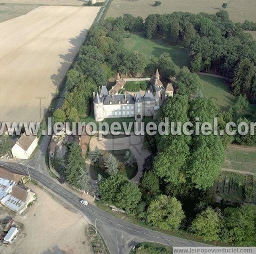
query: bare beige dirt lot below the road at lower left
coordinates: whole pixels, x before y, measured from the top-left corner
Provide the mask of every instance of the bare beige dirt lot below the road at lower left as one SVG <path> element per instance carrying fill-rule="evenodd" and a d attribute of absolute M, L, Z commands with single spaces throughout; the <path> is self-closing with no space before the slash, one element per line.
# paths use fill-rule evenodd
<path fill-rule="evenodd" d="M 9 247 L 0 247 L 0 253 L 92 253 L 89 225 L 80 213 L 65 208 L 45 190 L 32 184 L 29 187 L 36 192 L 37 200 L 24 215 L 14 217 L 23 228 Z"/>

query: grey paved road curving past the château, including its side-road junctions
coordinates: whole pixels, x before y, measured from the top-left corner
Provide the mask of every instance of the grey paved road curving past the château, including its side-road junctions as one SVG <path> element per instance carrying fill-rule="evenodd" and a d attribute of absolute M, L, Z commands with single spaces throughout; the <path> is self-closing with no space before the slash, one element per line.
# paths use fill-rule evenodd
<path fill-rule="evenodd" d="M 97 219 L 97 229 L 105 240 L 111 254 L 128 253 L 132 246 L 140 241 L 154 241 L 171 246 L 206 245 L 131 224 L 99 209 L 97 206 L 92 204 L 88 204 L 88 206 L 82 205 L 79 202 L 80 197 L 78 195 L 74 194 L 72 191 L 65 188 L 49 176 L 46 170 L 44 158 L 49 140 L 50 136 L 43 137 L 43 140 L 32 159 L 20 159 L 18 161 L 1 159 L 0 164 L 22 172 L 27 172 L 27 165 L 31 177 L 36 179 L 43 186 L 52 190 L 65 202 L 75 207 L 84 215 L 84 218 L 89 223 L 94 224 L 94 220 Z"/>

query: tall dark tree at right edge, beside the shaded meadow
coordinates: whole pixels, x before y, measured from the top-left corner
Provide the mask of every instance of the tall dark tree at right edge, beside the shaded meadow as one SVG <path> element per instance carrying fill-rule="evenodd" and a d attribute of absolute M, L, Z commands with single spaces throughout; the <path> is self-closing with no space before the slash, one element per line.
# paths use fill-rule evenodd
<path fill-rule="evenodd" d="M 254 64 L 248 59 L 241 59 L 234 69 L 233 74 L 233 93 L 238 96 L 241 94 L 250 94 L 252 77 L 255 73 Z"/>

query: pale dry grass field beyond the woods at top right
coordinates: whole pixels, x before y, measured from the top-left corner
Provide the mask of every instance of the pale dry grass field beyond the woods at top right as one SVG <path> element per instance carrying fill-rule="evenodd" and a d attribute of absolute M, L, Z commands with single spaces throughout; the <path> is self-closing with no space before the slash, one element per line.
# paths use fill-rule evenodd
<path fill-rule="evenodd" d="M 161 0 L 159 6 L 152 6 L 154 0 L 112 0 L 106 16 L 120 16 L 130 13 L 134 16 L 145 18 L 150 13 L 171 13 L 173 11 L 187 11 L 191 13 L 207 12 L 216 13 L 221 9 L 223 0 Z M 256 21 L 255 0 L 230 0 L 225 10 L 234 22 L 242 22 L 245 19 Z"/>

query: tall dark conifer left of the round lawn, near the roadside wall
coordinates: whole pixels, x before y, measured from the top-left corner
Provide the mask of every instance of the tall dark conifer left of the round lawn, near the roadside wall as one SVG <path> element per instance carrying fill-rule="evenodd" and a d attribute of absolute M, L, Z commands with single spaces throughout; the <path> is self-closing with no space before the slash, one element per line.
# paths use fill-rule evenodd
<path fill-rule="evenodd" d="M 79 187 L 78 179 L 81 170 L 85 170 L 85 162 L 81 155 L 81 148 L 76 142 L 68 145 L 66 152 L 66 170 L 64 172 L 68 184 Z"/>

